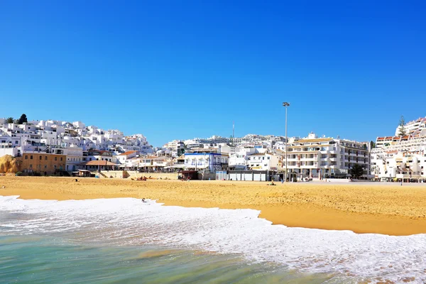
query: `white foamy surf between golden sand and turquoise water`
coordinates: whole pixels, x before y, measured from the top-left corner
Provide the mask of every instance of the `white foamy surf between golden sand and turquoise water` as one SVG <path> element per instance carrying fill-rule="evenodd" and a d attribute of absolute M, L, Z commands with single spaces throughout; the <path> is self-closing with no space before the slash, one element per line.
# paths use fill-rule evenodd
<path fill-rule="evenodd" d="M 133 198 L 19 200 L 0 196 L 0 234 L 70 232 L 87 241 L 241 253 L 307 272 L 426 282 L 426 234 L 386 236 L 272 226 L 252 209 L 163 207 Z M 2 218 L 2 212 L 20 213 Z"/>

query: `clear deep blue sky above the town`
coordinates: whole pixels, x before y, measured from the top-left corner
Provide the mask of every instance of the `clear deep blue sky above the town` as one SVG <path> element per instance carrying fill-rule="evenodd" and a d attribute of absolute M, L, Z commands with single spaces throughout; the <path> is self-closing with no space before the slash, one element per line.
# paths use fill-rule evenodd
<path fill-rule="evenodd" d="M 263 2 L 267 2 L 266 4 Z M 0 117 L 154 146 L 391 135 L 426 116 L 424 1 L 0 1 Z"/>

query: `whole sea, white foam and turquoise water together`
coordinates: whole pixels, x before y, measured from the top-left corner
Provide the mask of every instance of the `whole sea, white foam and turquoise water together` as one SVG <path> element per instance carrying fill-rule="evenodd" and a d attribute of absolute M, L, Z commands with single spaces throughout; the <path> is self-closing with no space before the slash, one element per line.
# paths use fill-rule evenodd
<path fill-rule="evenodd" d="M 0 196 L 0 283 L 426 282 L 426 234 L 288 228 L 259 213 Z"/>

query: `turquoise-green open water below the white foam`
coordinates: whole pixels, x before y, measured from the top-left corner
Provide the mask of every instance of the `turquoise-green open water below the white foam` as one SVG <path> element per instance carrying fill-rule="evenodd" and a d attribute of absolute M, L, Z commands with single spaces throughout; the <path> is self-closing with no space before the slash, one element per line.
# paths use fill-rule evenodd
<path fill-rule="evenodd" d="M 324 283 L 241 256 L 152 246 L 84 246 L 42 236 L 0 238 L 0 283 Z"/>

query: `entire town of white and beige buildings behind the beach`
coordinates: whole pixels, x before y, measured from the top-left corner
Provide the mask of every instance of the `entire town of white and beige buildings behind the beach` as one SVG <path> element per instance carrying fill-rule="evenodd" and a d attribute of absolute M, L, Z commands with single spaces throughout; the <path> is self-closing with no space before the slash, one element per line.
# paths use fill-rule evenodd
<path fill-rule="evenodd" d="M 21 120 L 0 119 L 0 157 L 18 160 L 23 175 L 133 171 L 221 180 L 426 179 L 426 118 L 398 126 L 394 136 L 377 137 L 375 143 L 315 133 L 288 141 L 248 134 L 174 140 L 162 147 L 151 146 L 142 134 L 124 136 L 82 121 Z M 354 168 L 361 168 L 356 176 Z"/>

